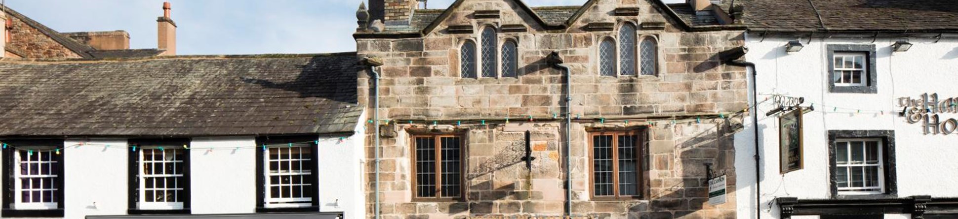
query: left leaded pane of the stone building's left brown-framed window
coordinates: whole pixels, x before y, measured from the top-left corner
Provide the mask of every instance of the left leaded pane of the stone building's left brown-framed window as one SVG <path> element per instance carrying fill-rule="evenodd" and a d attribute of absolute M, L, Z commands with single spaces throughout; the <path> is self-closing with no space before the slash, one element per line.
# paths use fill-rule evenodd
<path fill-rule="evenodd" d="M 418 197 L 436 196 L 436 141 L 416 138 L 416 183 Z"/>

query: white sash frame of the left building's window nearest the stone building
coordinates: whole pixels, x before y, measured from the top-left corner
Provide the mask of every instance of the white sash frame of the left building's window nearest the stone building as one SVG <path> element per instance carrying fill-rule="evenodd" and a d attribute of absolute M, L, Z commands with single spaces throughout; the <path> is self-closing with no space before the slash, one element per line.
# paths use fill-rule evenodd
<path fill-rule="evenodd" d="M 291 150 L 292 148 L 307 148 L 308 150 L 310 150 L 310 151 L 309 151 L 309 156 L 306 157 L 306 158 L 304 158 L 304 157 L 302 157 L 302 155 L 301 155 L 301 156 L 300 156 L 300 159 L 292 159 L 292 158 L 289 158 L 289 159 L 285 159 L 285 160 L 284 160 L 284 159 L 282 159 L 282 157 L 278 158 L 277 160 L 270 160 L 270 159 L 269 159 L 269 154 L 273 151 L 273 149 L 280 149 L 280 150 L 286 149 L 286 150 Z M 263 186 L 263 191 L 265 192 L 265 195 L 263 196 L 263 199 L 264 199 L 264 200 L 263 200 L 263 208 L 308 208 L 308 207 L 312 207 L 312 199 L 313 199 L 313 197 L 316 195 L 315 192 L 308 193 L 308 192 L 305 191 L 305 190 L 301 190 L 300 192 L 301 192 L 302 194 L 304 194 L 303 196 L 308 196 L 308 197 L 302 197 L 302 198 L 282 198 L 282 197 L 281 197 L 281 198 L 272 198 L 272 189 L 271 189 L 271 188 L 272 188 L 273 185 L 272 185 L 272 182 L 270 181 L 272 176 L 280 176 L 281 179 L 282 179 L 282 176 L 308 176 L 308 177 L 312 177 L 312 173 L 315 172 L 315 171 L 313 171 L 313 170 L 311 170 L 311 169 L 309 170 L 309 172 L 303 172 L 303 171 L 302 171 L 302 170 L 303 170 L 302 166 L 310 166 L 310 164 L 313 162 L 313 161 L 312 161 L 312 157 L 311 157 L 311 156 L 312 156 L 312 153 L 316 153 L 316 152 L 315 152 L 315 151 L 312 151 L 312 147 L 311 147 L 310 144 L 306 144 L 306 145 L 295 145 L 295 143 L 294 143 L 292 146 L 271 146 L 271 147 L 267 147 L 267 149 L 262 152 L 262 155 L 263 155 L 263 156 L 262 156 L 262 162 L 263 162 L 263 163 L 262 163 L 262 168 L 263 168 L 263 169 L 262 169 L 262 174 L 263 174 L 263 177 L 264 177 L 264 178 L 263 178 L 264 180 L 263 180 L 263 185 L 262 185 L 262 186 Z M 275 162 L 288 161 L 287 164 L 290 164 L 290 166 L 289 166 L 289 168 L 288 168 L 289 171 L 284 172 L 284 171 L 282 171 L 282 170 L 277 170 L 277 171 L 274 173 L 272 170 L 269 169 L 269 163 L 270 163 L 270 162 L 273 162 L 273 161 L 275 161 Z M 299 161 L 299 162 L 300 162 L 300 166 L 301 166 L 301 167 L 300 167 L 300 172 L 294 172 L 294 171 L 292 171 L 292 166 L 291 166 L 291 165 L 292 165 L 292 162 L 293 162 L 293 161 Z M 305 179 L 304 179 L 304 180 L 305 180 Z M 306 181 L 301 181 L 300 184 L 298 184 L 298 185 L 284 185 L 284 184 L 282 184 L 282 182 L 281 182 L 280 185 L 278 185 L 278 186 L 310 186 L 310 187 L 312 188 L 312 189 L 311 189 L 312 191 L 315 191 L 315 190 L 317 189 L 317 187 L 316 187 L 315 185 L 309 185 L 308 182 L 306 182 Z M 292 189 L 292 188 L 290 188 L 290 189 Z M 290 192 L 291 192 L 291 191 L 290 191 Z M 282 196 L 282 195 L 283 195 L 283 194 L 282 194 L 282 191 L 281 191 L 280 196 Z M 305 203 L 285 203 L 285 202 L 305 202 Z"/>

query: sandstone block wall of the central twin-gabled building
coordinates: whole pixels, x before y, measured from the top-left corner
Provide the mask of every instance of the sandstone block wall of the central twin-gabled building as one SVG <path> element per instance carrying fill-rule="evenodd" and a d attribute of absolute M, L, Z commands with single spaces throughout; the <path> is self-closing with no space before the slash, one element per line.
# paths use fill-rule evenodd
<path fill-rule="evenodd" d="M 638 7 L 641 12 L 638 16 L 611 15 L 622 7 Z M 501 18 L 473 19 L 472 11 L 479 10 L 499 10 Z M 602 37 L 617 37 L 617 32 L 586 31 L 584 27 L 593 22 L 617 26 L 665 22 L 665 30 L 638 31 L 659 40 L 659 74 L 599 76 L 598 42 Z M 468 0 L 435 33 L 423 38 L 357 39 L 360 56 L 379 56 L 386 63 L 381 68 L 379 116 L 392 121 L 383 130 L 396 135 L 383 138 L 380 148 L 384 218 L 561 215 L 565 156 L 571 156 L 575 215 L 734 218 L 734 193 L 727 204 L 703 204 L 708 197 L 703 163 L 715 163 L 717 172 L 734 179 L 730 130 L 722 120 L 677 120 L 672 124 L 671 118 L 709 118 L 746 107 L 744 69 L 720 65 L 717 57 L 720 51 L 741 46 L 742 33 L 684 33 L 669 22 L 647 1 L 604 0 L 568 30 L 545 31 L 513 1 Z M 508 38 L 519 44 L 519 76 L 460 77 L 459 47 L 464 40 L 477 38 L 484 25 L 509 24 L 529 28 L 524 33 L 499 33 L 500 43 Z M 449 25 L 471 25 L 475 33 L 448 33 Z M 572 68 L 570 115 L 579 120 L 572 125 L 570 151 L 562 150 L 565 129 L 560 120 L 554 120 L 564 113 L 563 76 L 544 62 L 554 51 Z M 366 72 L 359 75 L 359 99 L 371 105 L 371 77 Z M 535 120 L 528 121 L 529 117 Z M 504 123 L 506 118 L 512 122 Z M 610 121 L 600 122 L 600 118 Z M 455 125 L 457 120 L 466 123 Z M 478 120 L 490 122 L 482 125 Z M 642 169 L 648 175 L 648 186 L 642 200 L 591 199 L 587 130 L 595 128 L 645 130 L 650 141 L 643 146 Z M 468 164 L 465 201 L 413 202 L 410 130 L 462 133 L 467 142 L 464 163 Z M 526 131 L 535 149 L 531 169 L 521 161 L 525 145 L 517 143 L 526 141 Z M 367 158 L 372 159 L 375 147 L 372 133 L 368 134 Z M 370 216 L 374 215 L 373 164 L 366 167 Z M 729 191 L 735 190 L 734 180 L 729 186 Z"/>

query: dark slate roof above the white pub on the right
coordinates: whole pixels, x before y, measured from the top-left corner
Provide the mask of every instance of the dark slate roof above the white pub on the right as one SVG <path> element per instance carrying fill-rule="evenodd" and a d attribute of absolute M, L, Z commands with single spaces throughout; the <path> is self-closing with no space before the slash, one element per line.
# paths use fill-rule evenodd
<path fill-rule="evenodd" d="M 737 0 L 735 4 L 744 7 L 742 21 L 752 31 L 958 31 L 954 0 Z"/>

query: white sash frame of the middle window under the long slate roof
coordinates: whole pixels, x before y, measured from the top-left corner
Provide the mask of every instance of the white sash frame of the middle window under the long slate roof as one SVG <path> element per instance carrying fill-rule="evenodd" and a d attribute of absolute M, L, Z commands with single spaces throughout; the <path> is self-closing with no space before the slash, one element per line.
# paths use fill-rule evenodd
<path fill-rule="evenodd" d="M 139 171 L 139 174 L 137 174 L 137 176 L 139 178 L 138 181 L 140 182 L 140 185 L 139 185 L 140 189 L 138 189 L 140 193 L 140 198 L 139 198 L 139 201 L 137 202 L 137 208 L 139 209 L 183 209 L 183 202 L 182 202 L 183 198 L 176 197 L 175 193 L 173 194 L 174 199 L 177 199 L 180 202 L 147 202 L 147 198 L 152 198 L 152 197 L 147 197 L 147 182 L 146 181 L 148 177 L 157 177 L 157 178 L 164 178 L 164 179 L 168 177 L 177 177 L 177 178 L 184 177 L 183 172 L 180 172 L 180 174 L 149 174 L 147 175 L 146 172 L 144 171 L 147 164 L 143 161 L 144 152 L 147 150 L 151 150 L 153 152 L 160 151 L 161 153 L 163 153 L 163 161 L 159 161 L 159 162 L 150 161 L 149 164 L 160 163 L 164 165 L 164 169 L 166 168 L 166 163 L 173 163 L 173 166 L 177 164 L 183 165 L 183 158 L 180 158 L 179 160 L 174 159 L 173 161 L 170 161 L 170 162 L 166 161 L 166 156 L 167 156 L 166 152 L 165 150 L 160 150 L 159 147 L 146 147 L 146 148 L 140 149 L 137 153 L 139 157 L 137 158 L 137 163 L 139 163 L 139 165 L 137 165 L 139 166 L 139 170 L 137 170 Z M 177 149 L 169 149 L 169 150 L 177 150 Z M 175 156 L 175 153 L 173 154 Z M 183 154 L 180 156 L 189 156 L 189 155 L 187 154 L 187 151 L 183 151 Z M 173 169 L 175 169 L 175 167 L 173 167 Z M 153 171 L 155 172 L 156 169 L 154 168 Z M 184 169 L 183 171 L 186 171 L 186 169 Z M 178 181 L 174 181 L 174 182 L 178 182 Z M 182 190 L 184 192 L 188 192 L 184 188 L 185 185 L 178 185 L 178 183 L 175 186 L 175 188 L 172 188 L 172 189 L 170 188 L 169 185 L 165 185 L 165 186 L 166 188 L 163 189 L 164 191 Z M 153 190 L 155 192 L 156 189 L 154 188 Z"/>

